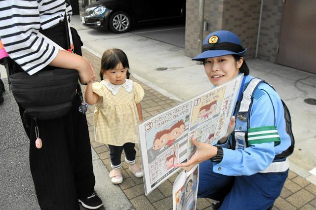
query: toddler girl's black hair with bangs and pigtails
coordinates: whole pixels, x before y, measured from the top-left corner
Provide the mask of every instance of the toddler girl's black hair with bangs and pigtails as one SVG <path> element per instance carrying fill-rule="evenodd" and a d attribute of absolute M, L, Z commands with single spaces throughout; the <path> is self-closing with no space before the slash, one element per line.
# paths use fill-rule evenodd
<path fill-rule="evenodd" d="M 126 78 L 129 79 L 129 64 L 126 54 L 117 48 L 106 50 L 101 58 L 101 70 L 100 77 L 103 80 L 103 71 L 111 70 L 118 66 L 121 63 L 123 68 L 126 68 Z"/>

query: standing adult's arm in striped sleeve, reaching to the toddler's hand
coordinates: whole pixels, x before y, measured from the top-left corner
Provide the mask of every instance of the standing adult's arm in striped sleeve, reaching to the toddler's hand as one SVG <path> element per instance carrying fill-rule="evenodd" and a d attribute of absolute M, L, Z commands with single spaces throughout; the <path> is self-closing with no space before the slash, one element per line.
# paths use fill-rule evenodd
<path fill-rule="evenodd" d="M 27 2 L 27 3 L 26 3 Z M 65 8 L 64 0 L 50 1 L 42 10 L 39 9 L 37 0 L 4 0 L 0 3 L 0 38 L 5 50 L 23 70 L 30 75 L 38 72 L 47 65 L 60 68 L 76 69 L 79 71 L 81 82 L 88 82 L 93 77 L 92 68 L 86 59 L 78 55 L 68 54 L 48 44 L 44 38 L 37 34 L 40 31 L 40 15 L 49 13 L 45 8 L 54 4 L 55 10 Z M 71 7 L 69 6 L 71 9 Z M 60 18 L 56 12 L 56 18 Z M 52 17 L 49 15 L 49 17 Z M 52 17 L 55 18 L 55 17 Z M 48 19 L 42 25 L 48 27 L 53 21 Z M 58 21 L 57 21 L 58 22 Z"/>

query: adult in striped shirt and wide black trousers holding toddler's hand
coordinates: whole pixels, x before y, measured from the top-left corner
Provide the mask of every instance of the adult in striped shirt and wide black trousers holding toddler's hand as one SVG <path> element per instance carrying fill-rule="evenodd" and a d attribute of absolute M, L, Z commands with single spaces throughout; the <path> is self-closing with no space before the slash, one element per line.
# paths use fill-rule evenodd
<path fill-rule="evenodd" d="M 38 35 L 41 32 L 63 48 L 67 48 L 64 20 L 72 8 L 65 0 L 1 0 L 0 39 L 18 71 L 33 75 L 52 68 L 79 71 L 82 83 L 94 79 L 89 61 L 83 58 L 79 35 L 73 34 L 75 52 L 58 50 Z M 75 94 L 75 93 L 74 93 Z M 72 109 L 63 117 L 39 122 L 45 146 L 34 144 L 35 122 L 23 118 L 30 139 L 30 168 L 41 209 L 79 209 L 79 202 L 89 209 L 102 206 L 94 193 L 91 147 L 86 117 L 79 113 L 78 94 Z"/>

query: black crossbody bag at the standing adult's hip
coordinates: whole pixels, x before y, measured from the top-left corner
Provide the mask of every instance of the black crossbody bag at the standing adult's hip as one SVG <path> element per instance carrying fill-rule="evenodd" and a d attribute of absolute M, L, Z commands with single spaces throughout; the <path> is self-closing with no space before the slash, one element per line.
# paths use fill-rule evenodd
<path fill-rule="evenodd" d="M 67 47 L 73 49 L 67 13 L 63 22 L 67 34 Z M 76 47 L 80 48 L 80 46 Z M 12 63 L 15 62 L 11 61 L 6 66 L 9 84 L 16 102 L 25 109 L 24 115 L 39 120 L 62 117 L 72 107 L 76 89 L 81 93 L 77 70 L 50 67 L 49 70 L 46 68 L 30 76 L 25 71 L 16 72 L 16 64 L 12 65 Z M 80 98 L 83 103 L 82 93 Z"/>

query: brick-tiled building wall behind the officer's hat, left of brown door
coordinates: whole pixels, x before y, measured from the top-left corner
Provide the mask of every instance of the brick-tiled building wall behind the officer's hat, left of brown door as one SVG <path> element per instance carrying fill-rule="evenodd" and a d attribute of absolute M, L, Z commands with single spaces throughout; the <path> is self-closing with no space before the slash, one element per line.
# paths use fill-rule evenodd
<path fill-rule="evenodd" d="M 259 36 L 258 58 L 276 62 L 276 45 L 279 42 L 283 3 L 282 0 L 264 0 Z M 217 30 L 237 34 L 248 50 L 246 59 L 255 58 L 261 0 L 205 0 L 204 19 L 208 20 L 205 38 Z M 195 57 L 198 52 L 198 0 L 187 0 L 185 55 Z"/>

